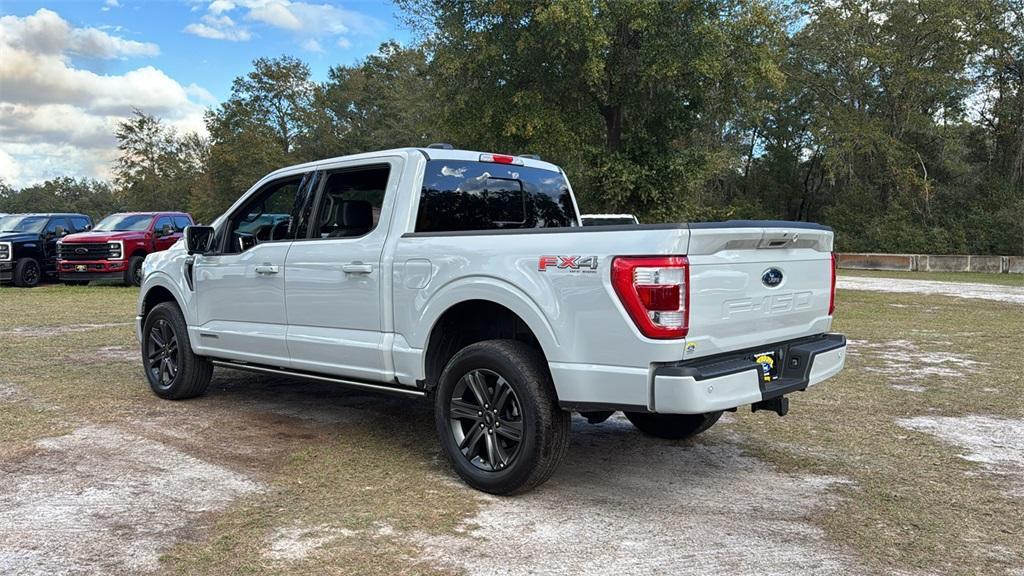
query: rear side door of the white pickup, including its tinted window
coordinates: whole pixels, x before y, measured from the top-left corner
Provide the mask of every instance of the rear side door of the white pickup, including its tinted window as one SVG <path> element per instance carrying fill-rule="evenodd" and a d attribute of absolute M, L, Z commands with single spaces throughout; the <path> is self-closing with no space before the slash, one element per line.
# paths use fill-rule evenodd
<path fill-rule="evenodd" d="M 310 239 L 288 253 L 285 292 L 292 367 L 390 379 L 383 333 L 389 310 L 382 268 L 402 161 L 348 162 L 319 176 Z"/>

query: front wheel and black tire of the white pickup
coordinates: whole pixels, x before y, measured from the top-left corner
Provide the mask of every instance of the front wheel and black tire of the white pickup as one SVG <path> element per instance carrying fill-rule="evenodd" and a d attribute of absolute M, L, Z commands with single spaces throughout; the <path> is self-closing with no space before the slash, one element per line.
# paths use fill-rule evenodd
<path fill-rule="evenodd" d="M 213 364 L 196 356 L 188 329 L 174 302 L 150 311 L 142 325 L 142 368 L 154 394 L 166 400 L 201 396 L 213 376 Z"/>

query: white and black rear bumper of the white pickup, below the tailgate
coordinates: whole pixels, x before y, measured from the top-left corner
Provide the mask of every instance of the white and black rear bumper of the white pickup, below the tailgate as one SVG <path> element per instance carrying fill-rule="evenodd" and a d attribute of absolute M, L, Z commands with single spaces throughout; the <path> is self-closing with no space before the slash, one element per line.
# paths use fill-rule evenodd
<path fill-rule="evenodd" d="M 779 378 L 763 382 L 754 355 L 774 351 Z M 729 353 L 654 369 L 652 412 L 703 414 L 772 400 L 805 390 L 840 372 L 846 362 L 846 336 L 823 334 L 756 351 Z"/>

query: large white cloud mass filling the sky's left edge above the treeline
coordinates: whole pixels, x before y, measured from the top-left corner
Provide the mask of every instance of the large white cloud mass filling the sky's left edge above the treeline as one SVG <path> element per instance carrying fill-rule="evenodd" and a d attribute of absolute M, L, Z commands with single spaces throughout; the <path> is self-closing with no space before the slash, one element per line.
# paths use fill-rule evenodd
<path fill-rule="evenodd" d="M 0 17 L 0 177 L 22 187 L 58 175 L 108 177 L 117 157 L 114 130 L 134 108 L 181 130 L 204 131 L 213 96 L 143 66 L 105 75 L 73 56 L 127 58 L 159 53 L 53 11 Z"/>

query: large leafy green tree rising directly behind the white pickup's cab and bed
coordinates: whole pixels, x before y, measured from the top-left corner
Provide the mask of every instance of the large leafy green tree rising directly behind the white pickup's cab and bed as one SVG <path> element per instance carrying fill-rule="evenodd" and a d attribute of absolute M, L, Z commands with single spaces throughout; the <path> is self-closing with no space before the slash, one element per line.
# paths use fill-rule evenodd
<path fill-rule="evenodd" d="M 756 1 L 404 0 L 431 55 L 444 131 L 536 152 L 586 206 L 645 219 L 714 212 L 730 124 L 781 81 L 777 10 Z"/>

